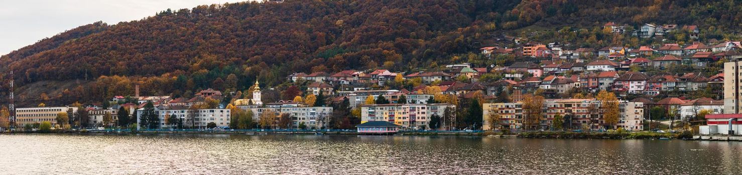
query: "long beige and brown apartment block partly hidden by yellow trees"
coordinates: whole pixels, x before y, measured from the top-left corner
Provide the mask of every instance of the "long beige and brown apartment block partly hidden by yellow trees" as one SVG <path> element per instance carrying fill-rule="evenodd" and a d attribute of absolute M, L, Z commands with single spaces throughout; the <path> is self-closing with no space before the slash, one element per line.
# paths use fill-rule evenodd
<path fill-rule="evenodd" d="M 547 99 L 542 106 L 542 117 L 539 128 L 548 129 L 554 127 L 554 117 L 559 114 L 564 120 L 562 128 L 611 128 L 603 120 L 601 103 L 594 99 Z M 525 111 L 523 104 L 518 103 L 485 103 L 482 106 L 484 123 L 483 129 L 493 129 L 490 123 L 490 114 L 500 115 L 500 124 L 495 128 L 517 129 L 525 128 Z M 644 120 L 643 103 L 619 101 L 619 120 L 617 128 L 628 131 L 642 131 Z"/>

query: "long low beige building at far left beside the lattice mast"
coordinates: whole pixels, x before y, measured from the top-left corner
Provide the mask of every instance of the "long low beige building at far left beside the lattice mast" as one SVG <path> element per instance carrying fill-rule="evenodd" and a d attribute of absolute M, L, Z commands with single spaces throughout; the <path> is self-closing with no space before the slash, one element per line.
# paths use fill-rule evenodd
<path fill-rule="evenodd" d="M 72 111 L 71 114 L 68 112 L 70 110 Z M 68 112 L 68 116 L 73 117 L 76 111 L 76 107 L 19 108 L 16 109 L 16 125 L 24 126 L 25 124 L 42 123 L 44 121 L 56 125 L 56 114 Z"/>

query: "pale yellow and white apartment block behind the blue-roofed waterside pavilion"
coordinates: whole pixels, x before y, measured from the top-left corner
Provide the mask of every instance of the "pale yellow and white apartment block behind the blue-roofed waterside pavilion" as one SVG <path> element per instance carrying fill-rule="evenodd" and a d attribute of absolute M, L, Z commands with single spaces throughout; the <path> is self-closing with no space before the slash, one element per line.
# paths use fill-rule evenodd
<path fill-rule="evenodd" d="M 456 106 L 444 103 L 361 105 L 361 123 L 388 121 L 404 128 L 429 128 L 430 117 L 444 117 L 447 107 L 453 109 Z"/>

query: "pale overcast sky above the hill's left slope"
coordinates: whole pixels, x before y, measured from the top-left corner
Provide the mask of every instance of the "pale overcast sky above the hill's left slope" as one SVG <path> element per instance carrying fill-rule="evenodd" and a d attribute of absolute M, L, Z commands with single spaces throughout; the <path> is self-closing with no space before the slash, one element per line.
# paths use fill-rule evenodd
<path fill-rule="evenodd" d="M 95 21 L 117 24 L 168 8 L 247 0 L 0 0 L 0 55 Z"/>

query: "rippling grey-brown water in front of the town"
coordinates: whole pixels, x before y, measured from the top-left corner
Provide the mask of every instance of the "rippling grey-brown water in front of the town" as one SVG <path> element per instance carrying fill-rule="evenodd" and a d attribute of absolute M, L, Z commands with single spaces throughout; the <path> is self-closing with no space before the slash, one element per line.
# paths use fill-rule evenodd
<path fill-rule="evenodd" d="M 0 174 L 742 174 L 742 143 L 0 134 Z"/>

